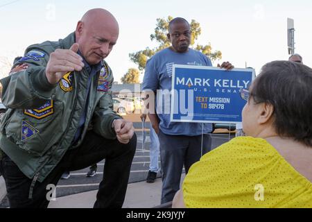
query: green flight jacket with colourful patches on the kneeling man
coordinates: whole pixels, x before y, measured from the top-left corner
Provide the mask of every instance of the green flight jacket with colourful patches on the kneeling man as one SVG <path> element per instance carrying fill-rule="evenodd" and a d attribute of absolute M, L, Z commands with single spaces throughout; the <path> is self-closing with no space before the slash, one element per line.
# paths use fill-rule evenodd
<path fill-rule="evenodd" d="M 46 78 L 49 55 L 55 49 L 69 49 L 75 33 L 58 42 L 43 42 L 28 47 L 19 63 L 28 69 L 0 80 L 2 102 L 8 111 L 0 126 L 0 148 L 28 177 L 42 182 L 69 148 L 81 144 L 90 124 L 98 135 L 116 139 L 112 121 L 121 119 L 113 111 L 113 76 L 103 60 L 103 69 L 92 78 L 85 125 L 72 146 L 85 108 L 89 74 L 85 68 L 65 74 L 58 84 Z"/>

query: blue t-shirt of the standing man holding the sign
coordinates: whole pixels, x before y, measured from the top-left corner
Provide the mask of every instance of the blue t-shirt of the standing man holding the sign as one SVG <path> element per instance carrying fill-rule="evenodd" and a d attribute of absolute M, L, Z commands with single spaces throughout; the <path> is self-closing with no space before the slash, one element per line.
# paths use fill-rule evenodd
<path fill-rule="evenodd" d="M 185 53 L 177 53 L 170 48 L 163 49 L 146 62 L 142 90 L 149 89 L 156 92 L 157 89 L 162 89 L 162 94 L 157 92 L 156 101 L 157 115 L 160 119 L 159 128 L 162 130 L 162 133 L 167 135 L 201 135 L 202 123 L 177 123 L 170 121 L 170 92 L 173 64 L 212 66 L 209 58 L 200 51 L 189 49 Z M 203 123 L 203 125 L 203 133 L 210 133 L 212 130 L 211 123 Z"/>

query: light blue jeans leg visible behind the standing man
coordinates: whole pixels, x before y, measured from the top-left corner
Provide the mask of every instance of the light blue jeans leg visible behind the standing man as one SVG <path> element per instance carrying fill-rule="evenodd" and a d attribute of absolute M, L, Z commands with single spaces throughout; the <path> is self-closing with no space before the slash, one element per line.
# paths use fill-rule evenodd
<path fill-rule="evenodd" d="M 150 171 L 157 173 L 159 170 L 158 165 L 158 157 L 159 157 L 159 139 L 150 124 Z"/>

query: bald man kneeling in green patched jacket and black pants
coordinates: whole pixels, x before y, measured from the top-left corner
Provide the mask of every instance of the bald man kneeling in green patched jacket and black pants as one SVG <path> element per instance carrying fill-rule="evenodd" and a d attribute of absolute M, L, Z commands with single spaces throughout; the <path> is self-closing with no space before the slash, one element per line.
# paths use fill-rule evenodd
<path fill-rule="evenodd" d="M 105 159 L 94 207 L 121 207 L 137 139 L 113 111 L 113 76 L 105 58 L 119 36 L 114 16 L 92 9 L 58 42 L 26 49 L 3 78 L 8 111 L 0 127 L 0 171 L 10 207 L 47 207 L 64 171 Z"/>

